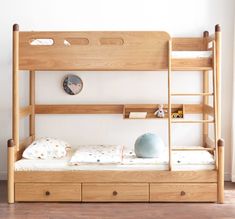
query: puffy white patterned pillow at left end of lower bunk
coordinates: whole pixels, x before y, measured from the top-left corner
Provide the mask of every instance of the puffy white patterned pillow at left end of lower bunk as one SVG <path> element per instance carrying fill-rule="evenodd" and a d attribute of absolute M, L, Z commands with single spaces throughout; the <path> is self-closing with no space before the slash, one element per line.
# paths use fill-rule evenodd
<path fill-rule="evenodd" d="M 40 138 L 29 145 L 22 156 L 26 159 L 58 159 L 65 157 L 70 149 L 67 142 L 54 138 Z"/>

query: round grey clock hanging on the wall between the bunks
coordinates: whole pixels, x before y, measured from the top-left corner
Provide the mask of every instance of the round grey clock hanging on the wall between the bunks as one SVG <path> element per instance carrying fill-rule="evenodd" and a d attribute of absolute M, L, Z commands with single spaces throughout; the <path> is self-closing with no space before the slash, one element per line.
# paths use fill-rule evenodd
<path fill-rule="evenodd" d="M 83 87 L 82 79 L 77 75 L 67 75 L 63 81 L 64 91 L 69 95 L 76 95 Z"/>

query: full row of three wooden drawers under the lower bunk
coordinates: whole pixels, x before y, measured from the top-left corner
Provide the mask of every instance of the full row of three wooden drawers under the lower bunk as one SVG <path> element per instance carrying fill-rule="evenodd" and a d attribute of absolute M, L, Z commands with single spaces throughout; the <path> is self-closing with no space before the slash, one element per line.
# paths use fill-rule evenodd
<path fill-rule="evenodd" d="M 216 202 L 216 183 L 16 183 L 15 201 Z"/>

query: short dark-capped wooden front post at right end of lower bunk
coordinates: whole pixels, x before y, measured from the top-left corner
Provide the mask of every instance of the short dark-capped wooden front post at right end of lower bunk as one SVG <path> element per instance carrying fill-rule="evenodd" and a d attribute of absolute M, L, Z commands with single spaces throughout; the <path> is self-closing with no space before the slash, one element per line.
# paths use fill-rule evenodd
<path fill-rule="evenodd" d="M 219 139 L 218 146 L 218 179 L 217 179 L 217 202 L 224 203 L 224 140 Z"/>

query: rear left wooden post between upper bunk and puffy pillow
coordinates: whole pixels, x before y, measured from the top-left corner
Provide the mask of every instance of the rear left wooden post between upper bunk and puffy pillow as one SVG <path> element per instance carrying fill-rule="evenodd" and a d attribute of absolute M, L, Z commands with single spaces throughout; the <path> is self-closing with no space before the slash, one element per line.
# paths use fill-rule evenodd
<path fill-rule="evenodd" d="M 29 136 L 35 140 L 35 71 L 29 72 L 29 105 L 32 106 L 32 113 L 29 117 Z"/>

